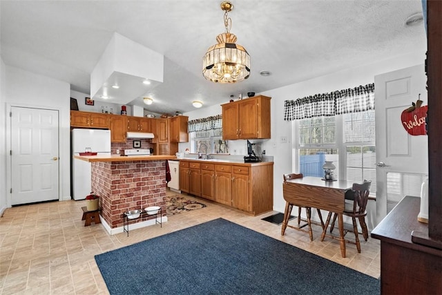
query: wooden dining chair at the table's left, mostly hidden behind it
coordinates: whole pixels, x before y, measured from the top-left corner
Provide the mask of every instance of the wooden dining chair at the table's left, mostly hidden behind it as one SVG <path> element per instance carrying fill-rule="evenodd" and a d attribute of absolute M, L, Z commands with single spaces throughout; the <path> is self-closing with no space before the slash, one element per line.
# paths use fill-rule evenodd
<path fill-rule="evenodd" d="M 284 174 L 282 176 L 284 178 L 284 182 L 286 182 L 287 180 L 292 180 L 292 179 L 303 177 L 302 173 L 288 173 L 288 174 Z M 305 208 L 305 213 L 307 215 L 307 219 L 303 220 L 301 218 L 302 206 L 298 206 L 297 204 L 293 204 L 293 203 L 289 202 L 289 200 L 285 200 L 285 201 L 286 202 L 285 202 L 284 221 L 282 222 L 281 236 L 284 236 L 285 229 L 287 227 L 291 227 L 292 229 L 297 229 L 299 231 L 308 232 L 309 236 L 310 236 L 310 240 L 313 240 L 313 231 L 311 230 L 311 208 L 310 207 L 303 207 L 303 208 Z M 298 227 L 294 227 L 292 225 L 289 225 L 291 210 L 293 209 L 294 206 L 298 206 Z M 318 216 L 320 218 L 321 225 L 323 225 L 323 217 L 322 217 L 319 209 L 318 209 Z M 301 225 L 301 221 L 306 222 L 306 223 Z M 306 226 L 309 227 L 308 231 L 303 229 L 303 227 L 306 227 Z"/>

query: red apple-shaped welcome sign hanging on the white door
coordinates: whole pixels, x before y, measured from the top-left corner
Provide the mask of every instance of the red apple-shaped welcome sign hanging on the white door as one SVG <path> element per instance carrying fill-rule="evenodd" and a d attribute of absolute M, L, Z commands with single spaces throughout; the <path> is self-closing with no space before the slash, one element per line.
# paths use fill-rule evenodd
<path fill-rule="evenodd" d="M 418 99 L 416 104 L 413 102 L 413 105 L 401 114 L 403 128 L 405 128 L 410 135 L 427 134 L 426 119 L 428 106 L 421 106 L 422 103 L 421 99 Z"/>

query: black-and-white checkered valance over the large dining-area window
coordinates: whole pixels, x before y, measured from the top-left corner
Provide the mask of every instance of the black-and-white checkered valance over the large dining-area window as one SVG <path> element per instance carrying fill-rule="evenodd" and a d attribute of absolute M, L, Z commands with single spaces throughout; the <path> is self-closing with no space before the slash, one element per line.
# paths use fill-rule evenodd
<path fill-rule="evenodd" d="M 286 100 L 284 120 L 334 116 L 374 110 L 374 84 Z"/>

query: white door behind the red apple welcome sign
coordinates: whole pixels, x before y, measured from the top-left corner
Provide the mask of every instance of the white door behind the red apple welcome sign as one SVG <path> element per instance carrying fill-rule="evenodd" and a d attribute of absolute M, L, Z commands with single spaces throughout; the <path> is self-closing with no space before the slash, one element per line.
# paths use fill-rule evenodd
<path fill-rule="evenodd" d="M 427 104 L 426 81 L 423 65 L 374 77 L 377 222 L 404 196 L 419 196 L 428 173 L 427 135 L 409 135 L 401 121 L 401 113 L 419 94 Z"/>

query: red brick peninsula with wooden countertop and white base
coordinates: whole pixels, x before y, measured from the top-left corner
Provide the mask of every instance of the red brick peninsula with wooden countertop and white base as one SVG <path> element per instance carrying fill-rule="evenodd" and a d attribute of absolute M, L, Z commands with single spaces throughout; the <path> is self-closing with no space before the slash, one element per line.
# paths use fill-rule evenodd
<path fill-rule="evenodd" d="M 124 212 L 151 206 L 162 208 L 167 221 L 166 161 L 175 155 L 92 155 L 74 156 L 90 162 L 92 191 L 99 198 L 100 218 L 109 234 L 123 232 Z M 155 224 L 155 216 L 144 214 L 131 221 L 131 229 Z"/>

